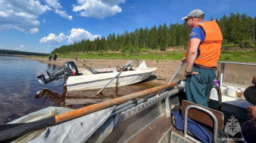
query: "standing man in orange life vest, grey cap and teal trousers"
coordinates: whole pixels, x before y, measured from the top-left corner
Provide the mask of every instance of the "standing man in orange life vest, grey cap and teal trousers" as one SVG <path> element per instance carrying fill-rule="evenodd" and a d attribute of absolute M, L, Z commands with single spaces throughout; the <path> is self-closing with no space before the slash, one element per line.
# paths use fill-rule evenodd
<path fill-rule="evenodd" d="M 217 60 L 223 41 L 216 21 L 205 21 L 204 12 L 195 9 L 183 17 L 189 29 L 189 44 L 186 50 L 187 67 L 186 99 L 208 107 L 208 95 L 213 87 Z"/>

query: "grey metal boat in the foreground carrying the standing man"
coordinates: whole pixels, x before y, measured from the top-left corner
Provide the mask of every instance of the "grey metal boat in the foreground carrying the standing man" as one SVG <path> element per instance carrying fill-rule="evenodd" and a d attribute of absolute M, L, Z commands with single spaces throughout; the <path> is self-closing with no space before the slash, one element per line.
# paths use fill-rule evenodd
<path fill-rule="evenodd" d="M 35 121 L 34 117 L 39 118 L 40 115 L 45 115 L 47 110 L 51 114 L 46 114 L 45 117 L 52 117 L 60 112 L 64 114 L 55 116 L 55 126 L 49 126 L 47 129 L 37 131 L 36 135 L 27 133 L 18 138 L 18 141 L 27 141 L 23 139 L 30 138 L 31 142 L 198 142 L 204 141 L 202 138 L 196 138 L 189 131 L 189 118 L 196 120 L 197 123 L 204 128 L 209 129 L 212 133 L 210 140 L 207 142 L 235 142 L 243 141 L 241 136 L 241 126 L 246 120 L 246 106 L 251 105 L 242 97 L 242 91 L 245 89 L 245 84 L 236 86 L 228 84 L 228 77 L 225 76 L 227 65 L 239 65 L 239 68 L 251 67 L 251 71 L 244 73 L 248 77 L 254 76 L 255 65 L 253 63 L 238 63 L 238 62 L 219 62 L 221 65 L 220 89 L 222 90 L 222 100 L 219 99 L 218 93 L 214 88 L 211 91 L 211 98 L 208 103 L 209 108 L 201 107 L 191 102 L 184 100 L 186 98 L 184 92 L 183 80 L 176 81 L 174 84 L 167 84 L 161 87 L 155 87 L 149 90 L 143 90 L 138 93 L 133 93 L 127 96 L 112 99 L 110 101 L 101 102 L 95 105 L 89 105 L 85 108 L 80 108 L 75 111 L 63 111 L 60 108 L 48 108 L 44 111 L 39 111 L 14 120 L 11 123 L 26 123 Z M 242 75 L 241 75 L 242 76 Z M 249 79 L 246 79 L 246 81 Z M 246 81 L 242 81 L 246 83 Z M 233 87 L 233 88 L 231 88 Z M 232 90 L 236 92 L 232 92 Z M 231 90 L 231 91 L 229 91 Z M 161 92 L 160 92 L 161 91 Z M 240 92 L 240 94 L 238 94 Z M 239 96 L 238 96 L 239 95 Z M 222 105 L 219 111 L 217 107 Z M 184 126 L 183 129 L 176 127 L 176 119 L 173 120 L 171 111 L 176 107 L 181 106 L 183 113 Z M 95 109 L 97 107 L 97 110 Z M 67 110 L 66 108 L 63 108 Z M 89 112 L 93 109 L 92 112 Z M 68 109 L 72 110 L 72 109 Z M 77 113 L 86 112 L 86 116 L 78 117 Z M 65 117 L 68 117 L 66 119 Z M 45 122 L 49 120 L 39 120 L 36 124 L 28 123 L 27 128 L 40 129 L 38 126 L 45 126 Z M 62 120 L 61 122 L 58 122 Z M 64 120 L 64 121 L 63 121 Z M 32 124 L 32 125 L 31 125 Z M 31 125 L 31 126 L 30 126 Z M 53 124 L 52 124 L 53 125 Z M 13 138 L 16 132 L 19 131 L 19 126 L 13 128 L 6 125 L 7 130 L 2 129 L 0 132 L 0 141 L 6 141 Z M 15 126 L 13 124 L 12 126 Z M 26 129 L 27 129 L 26 128 Z M 22 128 L 24 129 L 24 128 Z M 26 130 L 24 129 L 24 130 Z M 183 131 L 182 131 L 183 130 Z M 24 134 L 23 132 L 22 134 Z M 199 132 L 200 133 L 200 132 Z M 17 138 L 16 135 L 15 138 Z M 9 137 L 9 138 L 8 138 Z M 254 137 L 251 137 L 254 138 Z"/>

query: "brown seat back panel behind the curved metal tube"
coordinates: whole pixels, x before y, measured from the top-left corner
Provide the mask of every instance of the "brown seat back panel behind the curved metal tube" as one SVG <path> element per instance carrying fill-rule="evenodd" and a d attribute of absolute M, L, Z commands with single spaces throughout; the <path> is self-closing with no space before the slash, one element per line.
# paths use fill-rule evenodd
<path fill-rule="evenodd" d="M 220 129 L 220 130 L 223 129 L 224 114 L 222 112 L 214 110 L 212 108 L 206 108 L 202 105 L 198 105 L 198 104 L 195 104 L 193 102 L 183 100 L 182 101 L 182 108 L 181 108 L 182 114 L 185 114 L 186 107 L 188 107 L 189 105 L 197 105 L 201 108 L 205 108 L 205 109 L 208 109 L 209 111 L 211 111 L 215 115 L 215 117 L 217 118 L 218 129 Z M 198 121 L 199 123 L 203 123 L 204 125 L 214 127 L 214 120 L 212 119 L 212 117 L 209 114 L 205 113 L 204 111 L 200 111 L 198 109 L 191 108 L 191 109 L 189 109 L 188 117 L 190 117 L 193 120 Z"/>

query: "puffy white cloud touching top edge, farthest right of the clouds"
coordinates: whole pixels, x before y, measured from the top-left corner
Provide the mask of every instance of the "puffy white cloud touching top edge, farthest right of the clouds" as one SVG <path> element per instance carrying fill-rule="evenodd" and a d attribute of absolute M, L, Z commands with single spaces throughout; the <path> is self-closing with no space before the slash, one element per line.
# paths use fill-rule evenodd
<path fill-rule="evenodd" d="M 122 9 L 118 6 L 126 0 L 77 0 L 73 5 L 74 12 L 80 12 L 81 17 L 95 17 L 103 19 L 120 13 Z"/>

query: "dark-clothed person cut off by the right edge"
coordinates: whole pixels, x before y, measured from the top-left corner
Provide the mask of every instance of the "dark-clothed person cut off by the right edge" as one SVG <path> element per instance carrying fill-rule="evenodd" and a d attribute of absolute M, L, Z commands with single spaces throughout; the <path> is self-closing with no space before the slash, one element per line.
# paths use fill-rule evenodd
<path fill-rule="evenodd" d="M 256 77 L 252 78 L 251 81 L 254 86 L 247 87 L 245 89 L 245 99 L 251 102 L 254 106 L 248 105 L 247 113 L 250 120 L 242 124 L 242 136 L 246 142 L 256 142 Z"/>

